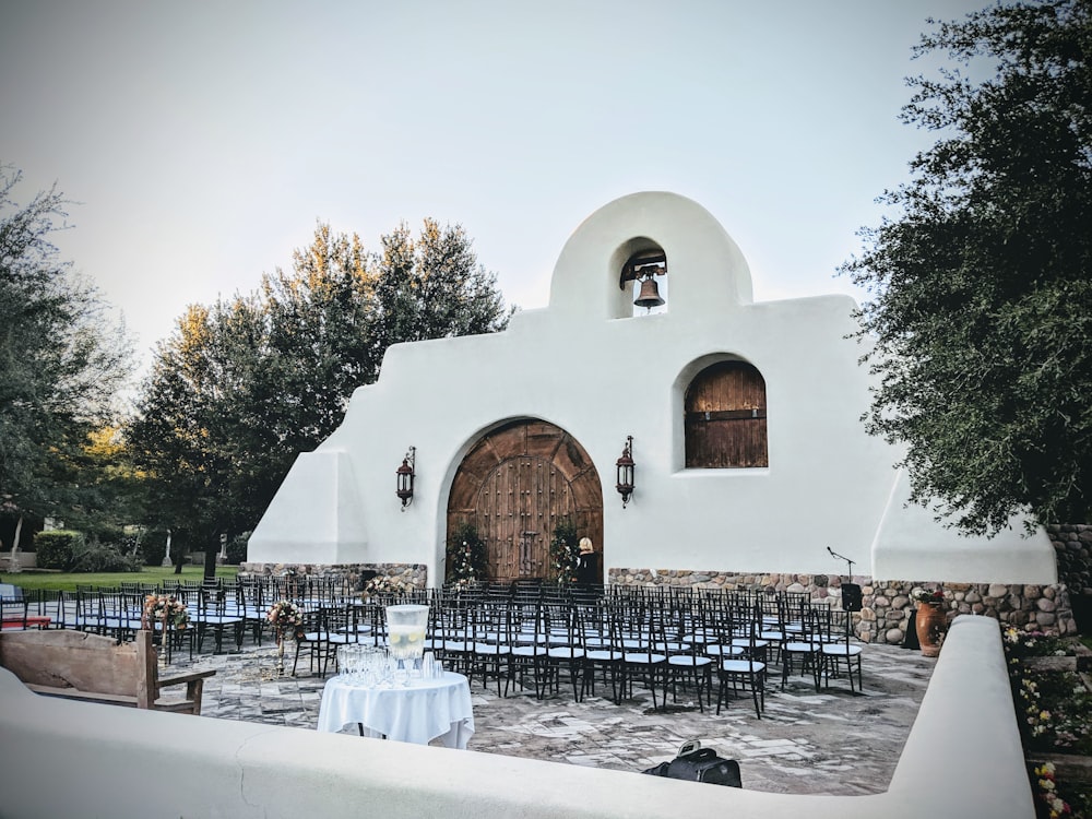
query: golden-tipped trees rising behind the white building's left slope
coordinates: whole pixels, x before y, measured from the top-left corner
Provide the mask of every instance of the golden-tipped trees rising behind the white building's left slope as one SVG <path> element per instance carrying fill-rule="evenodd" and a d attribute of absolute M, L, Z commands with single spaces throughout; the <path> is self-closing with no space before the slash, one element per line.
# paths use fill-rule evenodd
<path fill-rule="evenodd" d="M 190 526 L 206 553 L 218 535 L 253 529 L 296 455 L 376 380 L 385 344 L 507 324 L 495 277 L 461 228 L 427 222 L 417 242 L 401 228 L 382 240 L 381 260 L 320 224 L 290 272 L 179 320 L 126 429 L 155 487 L 151 522 Z"/>

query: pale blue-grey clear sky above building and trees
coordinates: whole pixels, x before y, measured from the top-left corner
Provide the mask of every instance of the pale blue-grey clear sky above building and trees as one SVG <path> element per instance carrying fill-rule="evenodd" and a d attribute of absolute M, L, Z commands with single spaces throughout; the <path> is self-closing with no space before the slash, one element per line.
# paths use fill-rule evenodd
<path fill-rule="evenodd" d="M 885 189 L 935 136 L 899 121 L 927 17 L 986 0 L 0 0 L 0 164 L 133 337 L 289 270 L 318 223 L 366 248 L 461 224 L 509 304 L 545 307 L 618 197 L 704 206 L 755 299 L 866 297 Z"/>

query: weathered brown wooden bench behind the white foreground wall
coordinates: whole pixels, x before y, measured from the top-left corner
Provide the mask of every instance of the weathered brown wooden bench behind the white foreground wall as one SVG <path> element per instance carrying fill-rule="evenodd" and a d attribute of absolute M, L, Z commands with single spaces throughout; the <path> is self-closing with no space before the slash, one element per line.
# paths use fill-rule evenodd
<path fill-rule="evenodd" d="M 206 677 L 215 670 L 159 677 L 152 632 L 133 642 L 84 631 L 0 631 L 0 666 L 48 697 L 105 702 L 154 711 L 201 713 Z M 182 699 L 163 699 L 165 688 L 186 686 Z"/>

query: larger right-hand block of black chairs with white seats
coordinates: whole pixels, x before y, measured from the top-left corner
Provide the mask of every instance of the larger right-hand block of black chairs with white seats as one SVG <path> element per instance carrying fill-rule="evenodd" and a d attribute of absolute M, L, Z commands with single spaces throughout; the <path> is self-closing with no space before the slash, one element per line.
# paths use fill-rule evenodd
<path fill-rule="evenodd" d="M 620 702 L 640 684 L 655 708 L 690 689 L 704 710 L 715 680 L 717 711 L 747 696 L 760 716 L 773 665 L 782 687 L 793 674 L 810 675 L 816 690 L 843 675 L 851 690 L 862 682 L 860 645 L 845 613 L 803 596 L 719 590 L 456 586 L 353 600 L 307 610 L 296 662 L 306 653 L 311 670 L 325 676 L 337 668 L 340 645 L 384 644 L 384 606 L 400 602 L 428 605 L 427 650 L 472 680 L 495 684 L 498 696 L 519 686 L 543 698 L 565 681 L 578 701 L 602 685 Z"/>

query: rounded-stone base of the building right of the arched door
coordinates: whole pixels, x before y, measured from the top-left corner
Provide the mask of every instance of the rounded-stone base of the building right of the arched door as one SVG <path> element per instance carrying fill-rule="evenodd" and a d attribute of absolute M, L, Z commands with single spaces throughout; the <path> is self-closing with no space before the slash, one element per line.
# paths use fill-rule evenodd
<path fill-rule="evenodd" d="M 806 592 L 811 600 L 831 600 L 841 607 L 842 578 L 836 574 L 747 573 L 666 569 L 610 569 L 609 582 L 619 585 L 675 585 L 728 591 Z M 864 642 L 901 644 L 915 607 L 913 592 L 940 586 L 949 618 L 983 615 L 1022 629 L 1076 633 L 1069 593 L 1065 584 L 1017 585 L 1004 583 L 942 583 L 940 581 L 883 580 L 854 574 L 863 606 L 853 615 L 853 630 Z"/>

